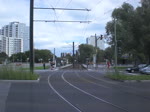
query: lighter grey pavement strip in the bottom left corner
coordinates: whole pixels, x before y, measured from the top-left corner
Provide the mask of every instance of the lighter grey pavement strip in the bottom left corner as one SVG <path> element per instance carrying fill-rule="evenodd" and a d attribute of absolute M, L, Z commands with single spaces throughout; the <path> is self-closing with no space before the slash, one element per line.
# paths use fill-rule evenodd
<path fill-rule="evenodd" d="M 11 83 L 0 81 L 0 112 L 5 112 L 5 102 L 7 100 L 10 86 Z"/>

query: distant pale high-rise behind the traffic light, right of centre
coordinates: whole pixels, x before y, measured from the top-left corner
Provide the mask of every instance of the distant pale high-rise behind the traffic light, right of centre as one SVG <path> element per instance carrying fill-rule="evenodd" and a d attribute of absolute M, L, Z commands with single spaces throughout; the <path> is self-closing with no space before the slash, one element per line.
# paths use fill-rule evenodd
<path fill-rule="evenodd" d="M 97 36 L 97 38 L 99 38 L 100 36 Z M 88 37 L 86 39 L 86 44 L 89 44 L 89 45 L 92 45 L 95 47 L 95 36 L 91 36 L 91 37 Z M 101 50 L 104 50 L 105 49 L 105 42 L 104 42 L 104 39 L 102 38 L 99 38 L 97 40 L 97 47 L 100 48 Z"/>

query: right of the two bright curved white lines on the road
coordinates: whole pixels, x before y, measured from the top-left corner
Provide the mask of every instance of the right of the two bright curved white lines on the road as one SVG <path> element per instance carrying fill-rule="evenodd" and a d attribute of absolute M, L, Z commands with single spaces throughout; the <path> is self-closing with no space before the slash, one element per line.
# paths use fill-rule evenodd
<path fill-rule="evenodd" d="M 119 106 L 117 106 L 117 105 L 115 105 L 115 104 L 112 104 L 112 103 L 110 103 L 110 102 L 108 102 L 108 101 L 106 101 L 106 100 L 103 100 L 103 99 L 101 99 L 101 98 L 99 98 L 99 97 L 97 97 L 97 96 L 94 96 L 94 95 L 92 95 L 92 94 L 90 94 L 90 93 L 88 93 L 88 92 L 86 92 L 86 91 L 84 91 L 84 90 L 78 88 L 77 86 L 74 86 L 73 84 L 71 84 L 70 82 L 68 82 L 68 81 L 64 78 L 64 74 L 62 74 L 61 77 L 62 77 L 62 79 L 63 79 L 66 83 L 68 83 L 70 86 L 74 87 L 75 89 L 77 89 L 77 90 L 79 90 L 79 91 L 81 91 L 81 92 L 83 92 L 83 93 L 85 93 L 85 94 L 87 94 L 87 95 L 89 95 L 89 96 L 91 96 L 91 97 L 93 97 L 93 98 L 95 98 L 95 99 L 101 101 L 101 102 L 104 102 L 104 103 L 109 104 L 109 105 L 111 105 L 111 106 L 113 106 L 113 107 L 116 107 L 116 108 L 121 109 L 121 110 L 123 110 L 123 111 L 125 111 L 125 112 L 128 112 L 128 110 L 126 110 L 126 109 L 124 109 L 124 108 L 122 108 L 122 107 L 119 107 Z"/>

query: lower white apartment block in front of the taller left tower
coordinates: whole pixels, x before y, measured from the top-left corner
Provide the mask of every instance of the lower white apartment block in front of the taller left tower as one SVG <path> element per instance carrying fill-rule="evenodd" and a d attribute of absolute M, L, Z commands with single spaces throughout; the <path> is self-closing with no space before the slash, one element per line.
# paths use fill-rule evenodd
<path fill-rule="evenodd" d="M 0 35 L 0 52 L 5 52 L 8 56 L 23 52 L 23 39 Z"/>

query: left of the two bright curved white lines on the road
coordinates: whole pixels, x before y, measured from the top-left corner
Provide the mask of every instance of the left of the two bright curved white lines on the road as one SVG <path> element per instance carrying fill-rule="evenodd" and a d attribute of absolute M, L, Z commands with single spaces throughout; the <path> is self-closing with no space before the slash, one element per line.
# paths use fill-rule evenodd
<path fill-rule="evenodd" d="M 63 73 L 64 74 L 64 73 Z M 53 74 L 52 74 L 53 75 Z M 71 104 L 67 99 L 65 99 L 50 83 L 50 78 L 52 75 L 48 76 L 48 84 L 50 86 L 50 88 L 59 96 L 61 97 L 65 102 L 67 102 L 70 106 L 72 106 L 74 109 L 76 109 L 78 112 L 82 112 L 81 110 L 79 110 L 77 107 L 75 107 L 73 104 Z"/>

